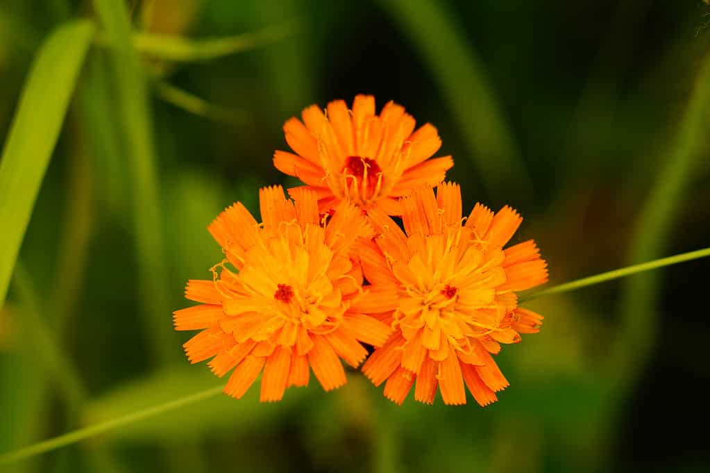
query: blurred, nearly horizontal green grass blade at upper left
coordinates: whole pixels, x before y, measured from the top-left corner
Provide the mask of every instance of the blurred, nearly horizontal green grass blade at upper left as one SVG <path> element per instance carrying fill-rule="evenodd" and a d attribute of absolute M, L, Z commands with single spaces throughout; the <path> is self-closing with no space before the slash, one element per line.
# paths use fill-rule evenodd
<path fill-rule="evenodd" d="M 155 59 L 173 62 L 207 61 L 275 43 L 293 35 L 298 28 L 298 21 L 292 20 L 268 26 L 256 33 L 200 40 L 141 32 L 133 35 L 133 44 L 136 50 Z"/>

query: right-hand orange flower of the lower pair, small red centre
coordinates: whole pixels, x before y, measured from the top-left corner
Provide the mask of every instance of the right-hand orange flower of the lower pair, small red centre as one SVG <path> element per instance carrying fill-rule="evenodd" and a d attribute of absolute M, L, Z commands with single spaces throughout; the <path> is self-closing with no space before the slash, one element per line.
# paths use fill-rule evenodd
<path fill-rule="evenodd" d="M 501 343 L 537 332 L 542 317 L 518 308 L 515 291 L 547 281 L 547 263 L 532 240 L 503 249 L 522 218 L 510 207 L 493 214 L 476 204 L 461 225 L 461 192 L 452 183 L 401 200 L 405 232 L 381 210 L 368 212 L 377 232 L 357 253 L 367 280 L 383 298 L 397 297 L 380 318 L 395 327 L 362 370 L 385 396 L 464 404 L 464 383 L 481 406 L 508 381 L 493 361 Z"/>

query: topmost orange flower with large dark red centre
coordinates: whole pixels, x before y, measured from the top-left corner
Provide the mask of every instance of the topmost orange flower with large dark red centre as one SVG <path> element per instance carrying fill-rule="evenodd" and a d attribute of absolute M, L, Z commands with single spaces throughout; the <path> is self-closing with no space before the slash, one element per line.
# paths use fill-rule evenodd
<path fill-rule="evenodd" d="M 414 131 L 415 120 L 394 102 L 378 115 L 375 97 L 358 95 L 352 110 L 335 100 L 301 116 L 283 126 L 296 154 L 276 151 L 273 163 L 316 192 L 322 213 L 347 201 L 400 215 L 397 197 L 436 185 L 454 165 L 451 156 L 429 159 L 442 144 L 437 129 L 427 123 Z"/>

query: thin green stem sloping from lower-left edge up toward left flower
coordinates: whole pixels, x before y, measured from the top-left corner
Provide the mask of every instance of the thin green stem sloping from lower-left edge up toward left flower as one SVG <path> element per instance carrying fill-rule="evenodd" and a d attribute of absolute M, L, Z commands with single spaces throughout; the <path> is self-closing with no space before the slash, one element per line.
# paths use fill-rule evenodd
<path fill-rule="evenodd" d="M 212 396 L 216 396 L 217 394 L 222 392 L 222 388 L 222 385 L 214 386 L 214 388 L 209 388 L 204 391 L 200 391 L 199 393 L 190 394 L 190 396 L 175 399 L 175 401 L 170 401 L 167 403 L 160 404 L 158 406 L 141 409 L 141 411 L 121 415 L 121 417 L 107 420 L 102 423 L 89 425 L 87 427 L 74 430 L 69 433 L 65 433 L 64 435 L 50 438 L 48 440 L 44 440 L 43 442 L 38 442 L 34 445 L 15 450 L 14 452 L 4 453 L 0 455 L 0 464 L 9 464 L 12 462 L 17 462 L 18 460 L 22 460 L 23 458 L 32 457 L 34 455 L 40 455 L 42 453 L 49 452 L 50 450 L 56 450 L 60 447 L 65 447 L 66 445 L 70 445 L 75 442 L 80 442 L 81 440 L 93 437 L 94 435 L 99 435 L 100 433 L 104 433 L 109 430 L 114 430 L 123 425 L 138 422 L 138 420 L 143 420 L 152 417 L 153 415 L 173 411 L 177 408 L 181 408 L 182 406 L 187 406 L 188 404 L 196 403 L 198 401 L 204 401 L 205 399 L 211 398 Z"/>

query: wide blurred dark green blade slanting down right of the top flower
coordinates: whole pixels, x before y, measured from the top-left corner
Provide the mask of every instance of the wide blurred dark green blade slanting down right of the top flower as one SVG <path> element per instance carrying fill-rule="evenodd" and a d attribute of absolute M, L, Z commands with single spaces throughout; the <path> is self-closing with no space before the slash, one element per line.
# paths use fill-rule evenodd
<path fill-rule="evenodd" d="M 420 51 L 493 197 L 525 198 L 532 185 L 484 67 L 456 22 L 432 0 L 380 0 Z"/>

